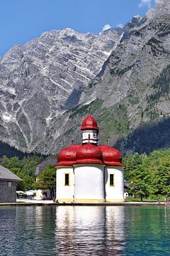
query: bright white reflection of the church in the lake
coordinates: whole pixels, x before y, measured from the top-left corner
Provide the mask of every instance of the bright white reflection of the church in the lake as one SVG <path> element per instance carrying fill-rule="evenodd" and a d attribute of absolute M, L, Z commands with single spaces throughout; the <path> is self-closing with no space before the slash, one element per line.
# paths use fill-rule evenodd
<path fill-rule="evenodd" d="M 123 255 L 124 228 L 124 206 L 60 206 L 56 249 L 61 255 Z"/>

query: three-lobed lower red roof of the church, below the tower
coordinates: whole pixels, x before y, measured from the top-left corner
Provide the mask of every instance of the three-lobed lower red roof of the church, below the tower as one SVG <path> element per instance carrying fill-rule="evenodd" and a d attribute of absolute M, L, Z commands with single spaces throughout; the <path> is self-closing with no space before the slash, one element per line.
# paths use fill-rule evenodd
<path fill-rule="evenodd" d="M 96 146 L 91 143 L 72 144 L 62 149 L 58 155 L 57 166 L 72 164 L 106 164 L 107 166 L 123 166 L 122 154 L 118 149 L 108 145 Z"/>

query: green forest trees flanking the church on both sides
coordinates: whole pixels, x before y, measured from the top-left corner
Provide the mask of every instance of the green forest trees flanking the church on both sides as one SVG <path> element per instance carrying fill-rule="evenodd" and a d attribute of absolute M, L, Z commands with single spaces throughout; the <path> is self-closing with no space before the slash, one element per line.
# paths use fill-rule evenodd
<path fill-rule="evenodd" d="M 35 182 L 35 169 L 42 156 L 28 156 L 18 159 L 18 156 L 8 158 L 2 156 L 1 165 L 23 179 L 18 182 L 17 189 L 55 188 L 55 167 L 49 164 L 38 176 Z M 160 149 L 147 154 L 128 154 L 123 158 L 125 166 L 124 179 L 131 182 L 128 192 L 132 196 L 143 198 L 170 196 L 170 149 Z"/>

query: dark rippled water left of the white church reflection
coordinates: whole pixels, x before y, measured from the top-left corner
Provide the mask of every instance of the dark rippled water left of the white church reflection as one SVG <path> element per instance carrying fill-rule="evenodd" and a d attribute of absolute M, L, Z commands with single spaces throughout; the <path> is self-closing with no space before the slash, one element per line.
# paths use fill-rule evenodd
<path fill-rule="evenodd" d="M 0 208 L 0 255 L 56 255 L 55 208 Z"/>

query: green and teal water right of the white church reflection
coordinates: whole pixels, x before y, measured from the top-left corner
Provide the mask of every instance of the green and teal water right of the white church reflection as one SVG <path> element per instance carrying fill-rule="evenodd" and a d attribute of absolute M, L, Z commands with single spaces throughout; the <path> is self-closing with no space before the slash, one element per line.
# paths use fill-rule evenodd
<path fill-rule="evenodd" d="M 128 208 L 125 211 L 126 255 L 169 255 L 169 217 L 169 207 Z"/>

